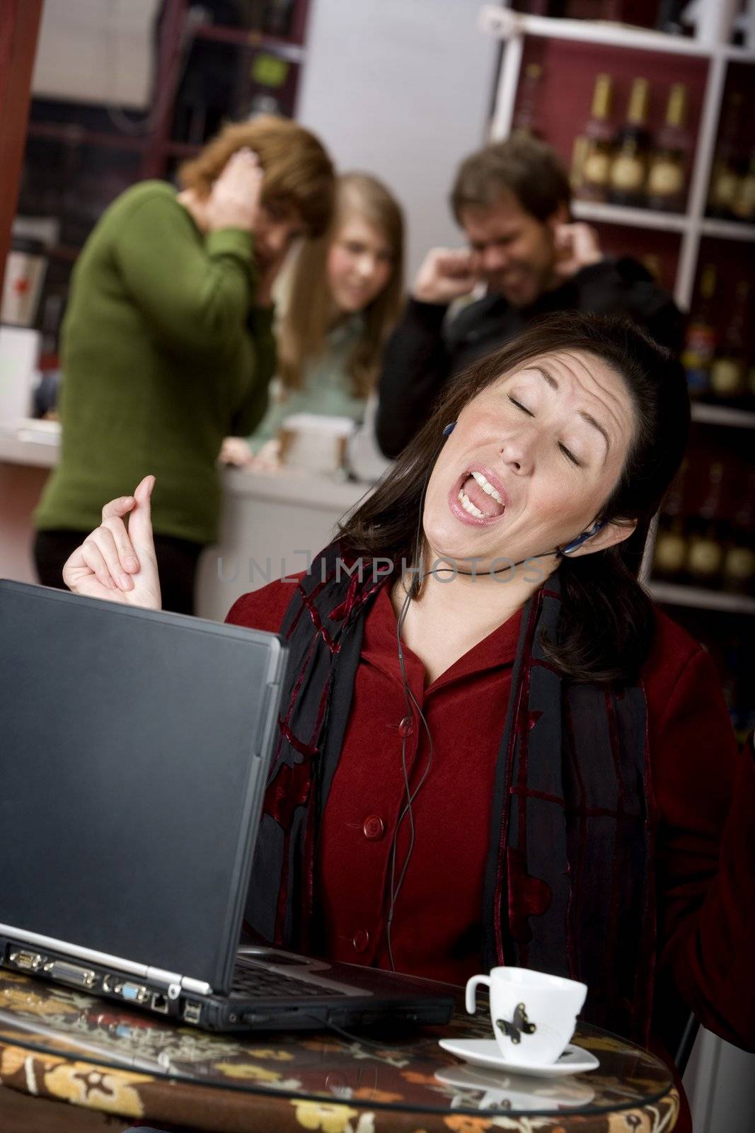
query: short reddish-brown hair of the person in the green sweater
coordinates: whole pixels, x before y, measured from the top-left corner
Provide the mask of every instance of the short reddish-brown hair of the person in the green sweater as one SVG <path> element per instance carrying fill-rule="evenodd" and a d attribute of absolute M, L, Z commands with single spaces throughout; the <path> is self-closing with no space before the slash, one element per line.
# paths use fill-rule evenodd
<path fill-rule="evenodd" d="M 295 210 L 311 236 L 321 236 L 333 213 L 333 163 L 315 135 L 288 118 L 259 114 L 225 126 L 201 153 L 181 165 L 182 188 L 207 197 L 229 157 L 243 146 L 255 151 L 265 171 L 265 207 Z"/>

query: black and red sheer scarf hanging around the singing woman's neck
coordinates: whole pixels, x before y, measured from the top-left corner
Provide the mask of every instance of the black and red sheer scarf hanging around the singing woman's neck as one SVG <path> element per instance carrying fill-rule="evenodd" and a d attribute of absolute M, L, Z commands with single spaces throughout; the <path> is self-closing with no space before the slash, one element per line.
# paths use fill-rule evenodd
<path fill-rule="evenodd" d="M 364 619 L 389 573 L 361 572 L 332 544 L 293 591 L 289 648 L 247 921 L 317 952 L 317 838 L 351 710 Z M 385 563 L 385 560 L 380 562 Z M 645 697 L 564 680 L 558 572 L 527 602 L 495 778 L 483 895 L 486 969 L 516 964 L 580 979 L 582 1016 L 646 1042 L 655 905 Z M 396 662 L 397 664 L 397 662 Z M 474 735 L 470 735 L 474 742 Z"/>

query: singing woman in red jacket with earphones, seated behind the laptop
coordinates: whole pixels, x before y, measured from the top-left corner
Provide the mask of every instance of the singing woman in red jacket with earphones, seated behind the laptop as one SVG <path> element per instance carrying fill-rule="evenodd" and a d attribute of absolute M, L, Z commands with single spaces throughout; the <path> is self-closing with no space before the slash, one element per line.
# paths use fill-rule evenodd
<path fill-rule="evenodd" d="M 289 646 L 251 927 L 457 983 L 572 976 L 621 1034 L 671 1043 L 693 1010 L 755 1046 L 752 751 L 636 581 L 688 421 L 642 332 L 550 320 L 456 380 L 306 574 L 237 602 Z M 71 589 L 158 606 L 153 483 Z"/>

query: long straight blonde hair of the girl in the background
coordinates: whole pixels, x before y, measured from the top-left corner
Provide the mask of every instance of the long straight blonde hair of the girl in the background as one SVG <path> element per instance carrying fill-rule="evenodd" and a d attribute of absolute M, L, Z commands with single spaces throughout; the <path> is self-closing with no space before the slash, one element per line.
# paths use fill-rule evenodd
<path fill-rule="evenodd" d="M 304 241 L 293 266 L 289 305 L 278 334 L 278 373 L 285 389 L 300 390 L 306 364 L 325 349 L 333 314 L 327 256 L 346 219 L 354 213 L 378 229 L 393 257 L 388 282 L 362 312 L 364 330 L 346 364 L 353 397 L 366 398 L 375 384 L 383 347 L 402 304 L 404 218 L 396 198 L 376 178 L 343 173 L 336 179 L 331 228 L 319 239 Z"/>

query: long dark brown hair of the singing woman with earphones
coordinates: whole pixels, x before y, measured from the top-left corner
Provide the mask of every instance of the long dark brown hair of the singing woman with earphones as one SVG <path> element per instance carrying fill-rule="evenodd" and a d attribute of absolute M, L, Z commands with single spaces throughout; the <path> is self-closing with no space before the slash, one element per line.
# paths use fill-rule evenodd
<path fill-rule="evenodd" d="M 624 543 L 560 561 L 563 606 L 558 641 L 543 642 L 564 676 L 575 681 L 636 678 L 652 644 L 653 605 L 637 581 L 650 522 L 681 462 L 689 432 L 689 398 L 679 363 L 625 318 L 554 315 L 533 323 L 495 353 L 451 381 L 430 420 L 377 488 L 341 526 L 358 554 L 414 564 L 420 503 L 443 429 L 481 390 L 534 358 L 578 350 L 600 358 L 626 383 L 635 407 L 635 436 L 621 476 L 598 519 L 636 520 Z"/>

